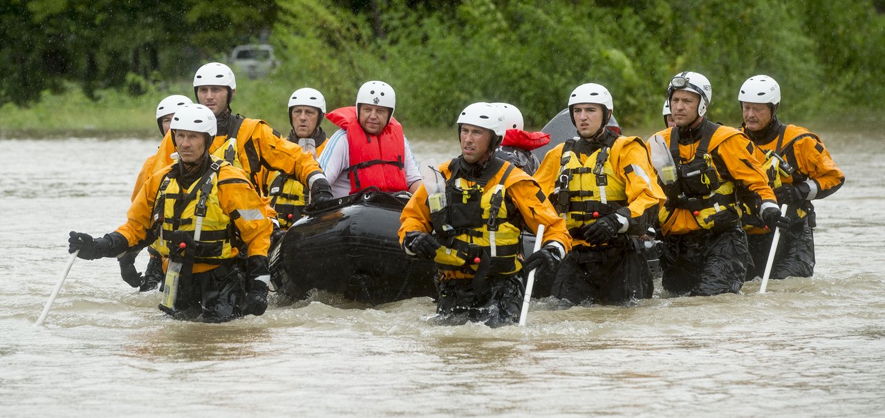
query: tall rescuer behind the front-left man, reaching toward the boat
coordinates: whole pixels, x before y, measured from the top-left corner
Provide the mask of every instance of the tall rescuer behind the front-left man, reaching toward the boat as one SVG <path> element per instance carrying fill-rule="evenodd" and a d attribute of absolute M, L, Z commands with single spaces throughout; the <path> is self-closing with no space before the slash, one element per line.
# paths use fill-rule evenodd
<path fill-rule="evenodd" d="M 329 183 L 311 153 L 285 141 L 261 119 L 235 115 L 230 103 L 236 93 L 234 72 L 224 64 L 203 65 L 194 75 L 194 95 L 218 119 L 218 133 L 209 147 L 212 156 L 246 171 L 258 194 L 267 196 L 271 171 L 293 175 L 312 191 L 314 200 L 332 198 Z M 166 135 L 155 157 L 153 171 L 173 162 L 172 137 Z M 136 185 L 138 187 L 139 185 Z"/>

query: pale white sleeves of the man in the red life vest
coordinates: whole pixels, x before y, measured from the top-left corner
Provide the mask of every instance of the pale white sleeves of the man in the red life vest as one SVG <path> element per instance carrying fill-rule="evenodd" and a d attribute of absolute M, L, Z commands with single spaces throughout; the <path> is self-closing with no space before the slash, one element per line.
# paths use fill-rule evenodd
<path fill-rule="evenodd" d="M 405 184 L 412 186 L 412 183 L 421 179 L 421 173 L 418 169 L 418 161 L 412 155 L 409 140 L 404 136 L 403 141 L 405 142 L 405 155 L 403 156 Z M 347 141 L 347 131 L 339 129 L 332 135 L 332 138 L 329 138 L 326 148 L 319 156 L 319 167 L 326 173 L 326 179 L 332 185 L 332 195 L 335 198 L 350 194 L 350 177 L 344 173 L 344 170 L 350 167 L 350 146 Z"/>

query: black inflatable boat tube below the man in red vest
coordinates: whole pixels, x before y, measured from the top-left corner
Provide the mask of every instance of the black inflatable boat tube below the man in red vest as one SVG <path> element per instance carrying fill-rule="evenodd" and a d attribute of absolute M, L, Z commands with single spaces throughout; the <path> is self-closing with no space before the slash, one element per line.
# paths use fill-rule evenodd
<path fill-rule="evenodd" d="M 317 289 L 372 305 L 435 297 L 433 261 L 406 255 L 396 235 L 408 196 L 369 187 L 305 209 L 282 239 L 275 285 L 296 299 Z"/>

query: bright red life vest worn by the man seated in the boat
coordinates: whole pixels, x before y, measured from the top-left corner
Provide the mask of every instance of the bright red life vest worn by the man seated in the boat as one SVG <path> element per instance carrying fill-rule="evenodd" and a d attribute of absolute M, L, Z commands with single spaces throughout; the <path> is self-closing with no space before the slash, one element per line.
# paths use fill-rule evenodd
<path fill-rule="evenodd" d="M 368 186 L 382 192 L 409 190 L 405 182 L 405 139 L 403 125 L 390 118 L 378 135 L 370 135 L 359 125 L 354 106 L 332 110 L 326 118 L 347 132 L 350 150 L 350 193 Z"/>

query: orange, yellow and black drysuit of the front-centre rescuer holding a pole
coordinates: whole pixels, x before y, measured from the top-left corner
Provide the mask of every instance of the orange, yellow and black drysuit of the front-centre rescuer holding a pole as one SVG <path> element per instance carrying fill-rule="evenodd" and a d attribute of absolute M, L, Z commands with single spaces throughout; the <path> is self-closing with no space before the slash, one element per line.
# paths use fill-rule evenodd
<path fill-rule="evenodd" d="M 544 224 L 544 245 L 564 254 L 571 247 L 566 221 L 535 179 L 500 158 L 471 164 L 458 156 L 439 170 L 445 204 L 440 194 L 428 199 L 426 185 L 420 186 L 400 217 L 400 243 L 412 255 L 406 239 L 432 232 L 442 245 L 434 257 L 441 316 L 490 326 L 516 322 L 524 293 L 519 232 Z"/>

